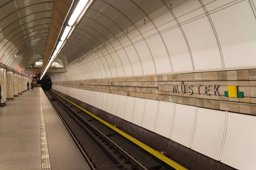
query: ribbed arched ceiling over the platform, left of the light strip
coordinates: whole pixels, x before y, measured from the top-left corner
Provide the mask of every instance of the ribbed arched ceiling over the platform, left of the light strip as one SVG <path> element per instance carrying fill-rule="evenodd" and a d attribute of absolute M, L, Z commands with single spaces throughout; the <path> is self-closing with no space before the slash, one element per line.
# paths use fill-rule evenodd
<path fill-rule="evenodd" d="M 0 57 L 17 70 L 42 59 L 52 17 L 53 0 L 0 1 Z M 15 57 L 16 55 L 16 57 Z"/>

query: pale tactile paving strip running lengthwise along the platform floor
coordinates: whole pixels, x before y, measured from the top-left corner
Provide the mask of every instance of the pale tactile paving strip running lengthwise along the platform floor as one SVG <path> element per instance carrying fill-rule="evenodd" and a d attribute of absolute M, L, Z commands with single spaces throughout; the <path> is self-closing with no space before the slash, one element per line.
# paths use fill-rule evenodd
<path fill-rule="evenodd" d="M 47 137 L 44 125 L 44 113 L 42 108 L 42 101 L 40 95 L 40 133 L 41 133 L 41 162 L 42 162 L 42 170 L 51 170 L 51 164 L 49 159 L 49 152 L 48 152 L 48 144 L 47 144 Z"/>

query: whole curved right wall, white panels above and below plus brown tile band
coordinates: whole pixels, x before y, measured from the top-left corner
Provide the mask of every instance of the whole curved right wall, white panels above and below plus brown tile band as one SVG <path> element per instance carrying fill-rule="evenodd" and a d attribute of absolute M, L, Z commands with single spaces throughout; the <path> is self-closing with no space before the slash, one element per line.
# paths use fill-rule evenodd
<path fill-rule="evenodd" d="M 255 114 L 256 72 L 239 69 L 256 66 L 256 0 L 172 2 L 93 1 L 58 56 L 70 64 L 67 73 L 50 76 L 52 88 L 231 167 L 254 170 L 256 119 L 237 113 Z M 187 99 L 170 90 L 180 81 L 211 91 L 215 83 L 221 94 Z M 244 98 L 225 98 L 228 85 L 239 85 Z"/>

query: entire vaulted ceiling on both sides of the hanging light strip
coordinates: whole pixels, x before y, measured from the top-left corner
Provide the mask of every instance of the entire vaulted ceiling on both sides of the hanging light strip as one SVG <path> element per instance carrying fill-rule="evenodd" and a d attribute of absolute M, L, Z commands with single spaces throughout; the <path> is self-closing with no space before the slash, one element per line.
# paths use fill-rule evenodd
<path fill-rule="evenodd" d="M 49 58 L 58 37 L 56 30 L 49 36 L 56 1 L 68 6 L 71 0 L 0 1 L 0 62 L 24 71 L 32 62 Z M 62 79 L 255 67 L 255 4 L 93 0 L 58 55 L 68 71 Z"/>

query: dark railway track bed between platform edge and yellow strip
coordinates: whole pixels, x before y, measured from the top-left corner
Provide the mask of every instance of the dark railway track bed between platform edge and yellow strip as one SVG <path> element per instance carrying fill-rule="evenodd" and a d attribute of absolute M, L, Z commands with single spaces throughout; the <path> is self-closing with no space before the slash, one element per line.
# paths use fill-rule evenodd
<path fill-rule="evenodd" d="M 92 170 L 173 170 L 52 91 L 45 93 Z"/>

